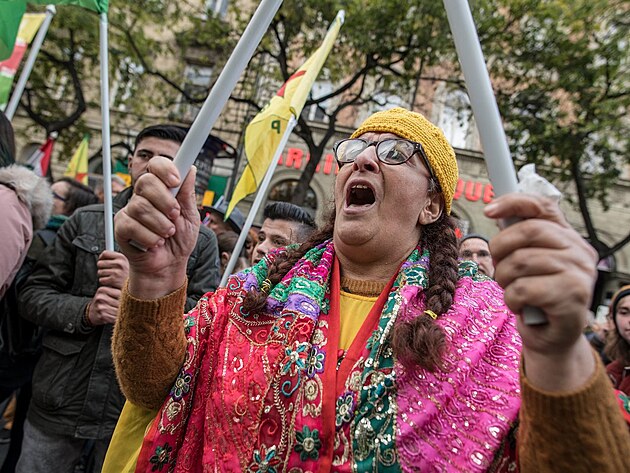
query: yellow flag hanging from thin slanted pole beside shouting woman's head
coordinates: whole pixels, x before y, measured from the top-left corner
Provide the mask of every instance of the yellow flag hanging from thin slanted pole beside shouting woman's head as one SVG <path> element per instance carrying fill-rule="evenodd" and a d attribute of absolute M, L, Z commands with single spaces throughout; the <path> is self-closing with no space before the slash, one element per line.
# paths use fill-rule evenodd
<path fill-rule="evenodd" d="M 265 177 L 291 115 L 297 118 L 302 113 L 308 94 L 337 39 L 342 24 L 343 12 L 339 12 L 330 25 L 322 45 L 289 77 L 276 96 L 245 129 L 247 165 L 232 194 L 232 200 L 225 213 L 226 218 L 238 202 L 256 191 Z"/>

